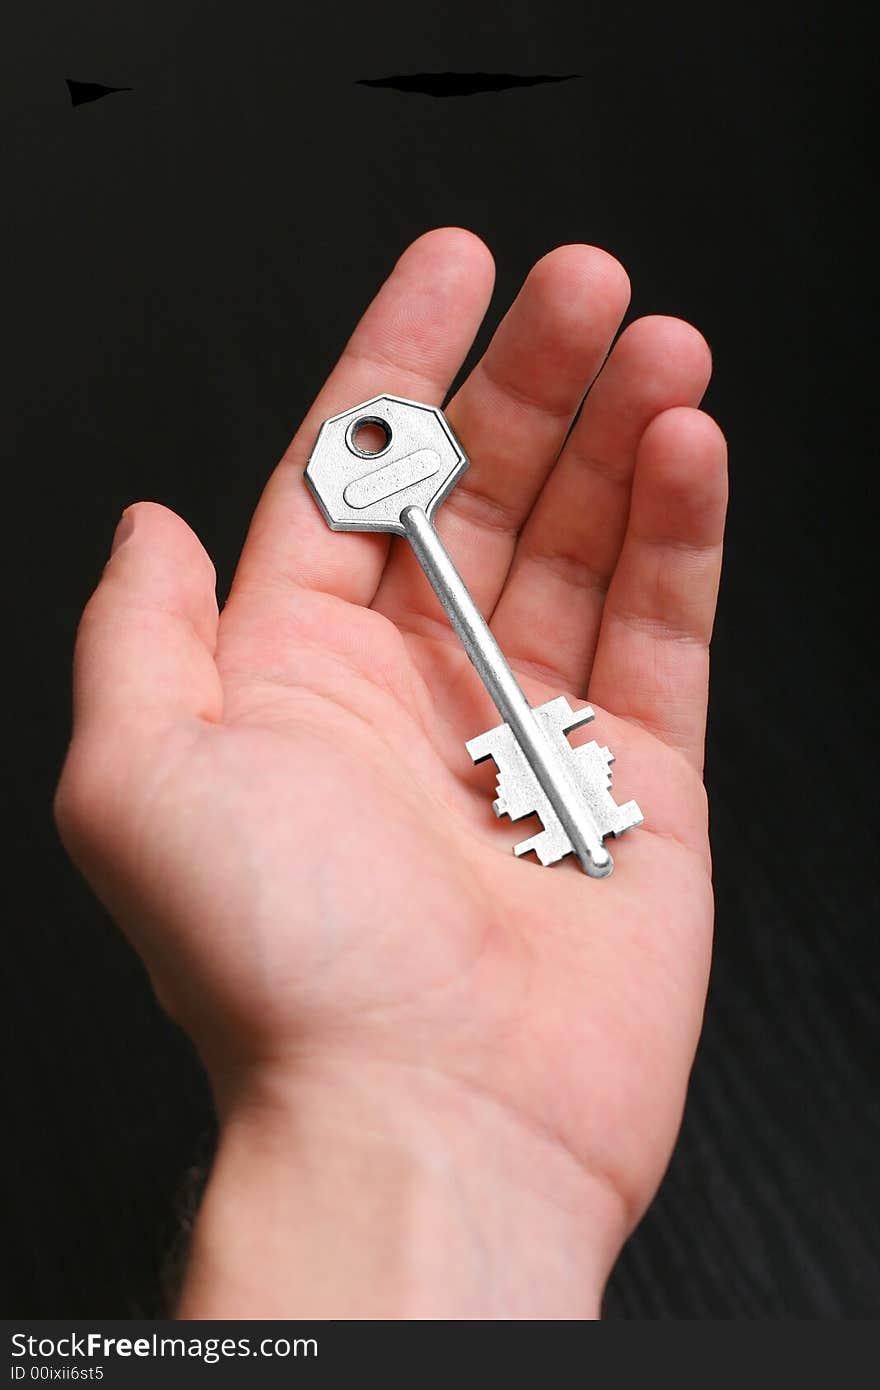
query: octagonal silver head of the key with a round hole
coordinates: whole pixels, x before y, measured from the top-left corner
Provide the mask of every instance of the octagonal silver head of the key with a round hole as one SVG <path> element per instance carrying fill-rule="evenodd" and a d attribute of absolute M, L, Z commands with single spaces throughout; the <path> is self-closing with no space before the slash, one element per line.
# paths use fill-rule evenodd
<path fill-rule="evenodd" d="M 364 448 L 368 434 L 378 434 L 378 448 L 374 441 Z M 467 456 L 438 406 L 374 396 L 324 421 L 306 482 L 334 531 L 403 535 L 405 507 L 432 517 L 466 468 Z"/>

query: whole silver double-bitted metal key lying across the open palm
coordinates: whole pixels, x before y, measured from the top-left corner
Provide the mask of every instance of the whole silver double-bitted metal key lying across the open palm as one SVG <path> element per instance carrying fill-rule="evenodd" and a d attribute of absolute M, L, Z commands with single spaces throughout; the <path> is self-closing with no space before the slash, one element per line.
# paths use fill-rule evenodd
<path fill-rule="evenodd" d="M 364 446 L 367 427 L 381 435 Z M 598 744 L 571 748 L 567 730 L 594 717 L 564 696 L 532 709 L 439 535 L 434 514 L 467 468 L 462 445 L 437 406 L 374 396 L 325 420 L 306 466 L 306 482 L 334 531 L 389 531 L 410 542 L 434 592 L 503 723 L 466 745 L 475 763 L 498 766 L 495 815 L 537 815 L 544 830 L 516 845 L 544 865 L 574 853 L 594 878 L 614 867 L 606 835 L 621 835 L 642 815 L 634 801 L 617 806 L 613 756 Z"/>

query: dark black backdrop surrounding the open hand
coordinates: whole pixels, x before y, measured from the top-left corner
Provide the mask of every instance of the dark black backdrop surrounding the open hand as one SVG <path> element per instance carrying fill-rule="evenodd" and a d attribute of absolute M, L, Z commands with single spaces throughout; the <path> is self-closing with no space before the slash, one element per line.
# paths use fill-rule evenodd
<path fill-rule="evenodd" d="M 3 57 L 10 1314 L 153 1315 L 211 1111 L 58 847 L 70 651 L 121 509 L 221 596 L 271 466 L 403 246 L 589 240 L 706 334 L 731 446 L 708 781 L 717 947 L 670 1173 L 612 1318 L 880 1305 L 873 49 L 845 7 L 57 0 Z M 577 79 L 438 99 L 420 71 Z M 133 90 L 71 107 L 65 78 Z M 485 334 L 481 341 L 485 341 Z"/>

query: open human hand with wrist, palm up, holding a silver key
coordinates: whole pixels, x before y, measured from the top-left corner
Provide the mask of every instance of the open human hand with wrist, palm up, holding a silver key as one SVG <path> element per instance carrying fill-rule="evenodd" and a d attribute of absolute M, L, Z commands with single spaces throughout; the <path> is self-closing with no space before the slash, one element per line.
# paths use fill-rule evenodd
<path fill-rule="evenodd" d="M 712 934 L 703 339 L 648 317 L 605 360 L 626 272 L 564 246 L 446 407 L 471 467 L 438 530 L 531 703 L 588 698 L 580 738 L 645 815 L 610 878 L 510 853 L 528 827 L 495 820 L 464 749 L 498 714 L 424 574 L 405 542 L 328 531 L 302 481 L 325 417 L 443 400 L 491 288 L 467 232 L 409 247 L 220 617 L 154 503 L 83 614 L 58 826 L 221 1119 L 185 1316 L 594 1316 L 674 1143 Z"/>

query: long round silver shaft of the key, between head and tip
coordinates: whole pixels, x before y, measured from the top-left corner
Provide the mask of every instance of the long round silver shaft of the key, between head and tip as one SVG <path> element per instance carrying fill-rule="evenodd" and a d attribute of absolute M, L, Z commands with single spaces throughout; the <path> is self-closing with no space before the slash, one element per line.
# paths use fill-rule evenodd
<path fill-rule="evenodd" d="M 492 696 L 502 720 L 513 730 L 544 795 L 556 812 L 581 867 L 594 878 L 605 878 L 613 869 L 613 860 L 589 809 L 538 724 L 492 630 L 474 603 L 432 523 L 423 509 L 416 506 L 403 509 L 400 523 L 480 680 Z"/>

